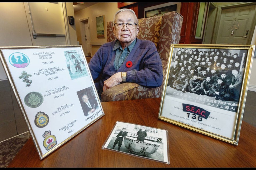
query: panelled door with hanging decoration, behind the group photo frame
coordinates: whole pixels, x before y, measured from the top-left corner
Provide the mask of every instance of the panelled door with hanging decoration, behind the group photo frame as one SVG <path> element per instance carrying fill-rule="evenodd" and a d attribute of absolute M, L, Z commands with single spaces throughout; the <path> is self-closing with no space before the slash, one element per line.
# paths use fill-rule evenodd
<path fill-rule="evenodd" d="M 223 9 L 218 27 L 216 44 L 250 44 L 249 35 L 253 34 L 255 6 Z"/>

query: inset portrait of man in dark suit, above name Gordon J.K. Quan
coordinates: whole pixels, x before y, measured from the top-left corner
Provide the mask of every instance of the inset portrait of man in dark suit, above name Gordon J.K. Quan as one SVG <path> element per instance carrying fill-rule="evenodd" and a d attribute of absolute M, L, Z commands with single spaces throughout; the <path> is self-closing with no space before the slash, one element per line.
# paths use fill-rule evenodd
<path fill-rule="evenodd" d="M 97 109 L 99 109 L 99 104 L 96 100 L 92 86 L 78 91 L 77 96 L 85 116 L 91 115 Z"/>

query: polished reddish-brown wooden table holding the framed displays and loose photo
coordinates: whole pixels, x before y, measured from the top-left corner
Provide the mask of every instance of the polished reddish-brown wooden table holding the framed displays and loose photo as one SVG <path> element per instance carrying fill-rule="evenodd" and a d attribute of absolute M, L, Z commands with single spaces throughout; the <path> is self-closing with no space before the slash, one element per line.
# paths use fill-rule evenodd
<path fill-rule="evenodd" d="M 43 160 L 30 138 L 8 167 L 256 167 L 256 128 L 242 122 L 238 146 L 158 119 L 161 98 L 103 102 L 105 116 Z M 169 135 L 170 164 L 103 150 L 116 121 Z"/>

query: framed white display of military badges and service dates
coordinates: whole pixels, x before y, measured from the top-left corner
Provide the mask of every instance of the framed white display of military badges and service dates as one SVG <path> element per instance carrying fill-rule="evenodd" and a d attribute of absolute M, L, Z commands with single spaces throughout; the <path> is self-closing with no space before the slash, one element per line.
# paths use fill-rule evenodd
<path fill-rule="evenodd" d="M 0 50 L 40 159 L 104 116 L 81 46 Z"/>

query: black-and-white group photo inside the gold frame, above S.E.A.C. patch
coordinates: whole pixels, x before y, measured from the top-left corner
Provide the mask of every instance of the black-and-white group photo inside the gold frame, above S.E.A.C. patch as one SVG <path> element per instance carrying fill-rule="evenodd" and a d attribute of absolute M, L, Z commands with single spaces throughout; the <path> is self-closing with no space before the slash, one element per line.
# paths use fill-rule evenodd
<path fill-rule="evenodd" d="M 166 94 L 237 111 L 247 50 L 174 48 Z"/>

